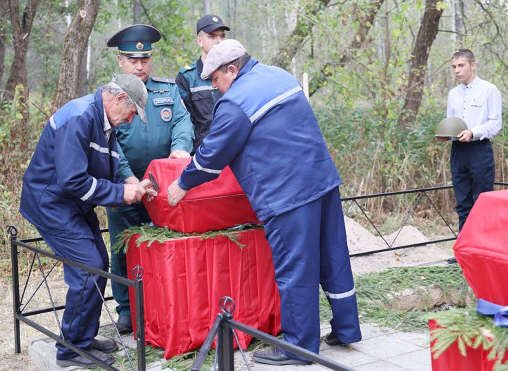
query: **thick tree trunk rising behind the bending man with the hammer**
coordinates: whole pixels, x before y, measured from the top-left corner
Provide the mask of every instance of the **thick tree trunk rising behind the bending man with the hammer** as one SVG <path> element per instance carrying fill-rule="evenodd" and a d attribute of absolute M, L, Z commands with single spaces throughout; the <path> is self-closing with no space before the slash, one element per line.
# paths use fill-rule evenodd
<path fill-rule="evenodd" d="M 88 37 L 95 24 L 99 3 L 100 0 L 81 0 L 65 35 L 53 95 L 54 106 L 57 108 L 77 97 L 79 72 L 88 46 Z"/>

